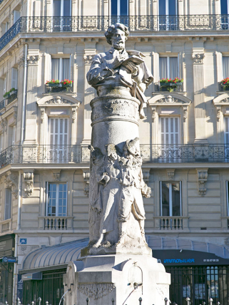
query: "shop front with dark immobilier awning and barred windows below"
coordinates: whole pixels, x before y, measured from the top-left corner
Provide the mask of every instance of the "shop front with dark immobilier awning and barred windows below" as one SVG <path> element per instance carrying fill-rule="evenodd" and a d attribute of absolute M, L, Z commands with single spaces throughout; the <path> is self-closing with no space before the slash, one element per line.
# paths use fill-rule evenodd
<path fill-rule="evenodd" d="M 191 250 L 154 250 L 153 256 L 171 274 L 171 303 L 199 305 L 209 303 L 228 305 L 229 259 L 213 253 Z"/>

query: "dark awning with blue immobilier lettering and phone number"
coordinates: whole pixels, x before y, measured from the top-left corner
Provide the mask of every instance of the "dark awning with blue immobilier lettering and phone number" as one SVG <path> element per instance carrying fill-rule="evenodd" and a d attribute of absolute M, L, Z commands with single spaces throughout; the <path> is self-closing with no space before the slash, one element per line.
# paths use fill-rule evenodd
<path fill-rule="evenodd" d="M 229 265 L 229 259 L 213 253 L 191 250 L 153 250 L 153 257 L 165 266 Z"/>

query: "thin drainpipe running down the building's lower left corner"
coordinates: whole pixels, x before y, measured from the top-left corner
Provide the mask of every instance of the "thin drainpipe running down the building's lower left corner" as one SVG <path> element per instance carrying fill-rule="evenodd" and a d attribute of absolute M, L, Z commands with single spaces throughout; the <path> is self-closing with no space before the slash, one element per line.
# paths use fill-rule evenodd
<path fill-rule="evenodd" d="M 21 170 L 19 170 L 19 185 L 18 185 L 18 220 L 16 225 L 16 231 L 21 229 Z M 18 256 L 18 243 L 19 243 L 19 234 L 15 234 L 15 249 L 14 249 L 14 257 Z M 13 301 L 12 304 L 16 305 L 16 297 L 17 297 L 17 282 L 18 282 L 18 265 L 14 263 L 14 279 L 13 279 Z"/>

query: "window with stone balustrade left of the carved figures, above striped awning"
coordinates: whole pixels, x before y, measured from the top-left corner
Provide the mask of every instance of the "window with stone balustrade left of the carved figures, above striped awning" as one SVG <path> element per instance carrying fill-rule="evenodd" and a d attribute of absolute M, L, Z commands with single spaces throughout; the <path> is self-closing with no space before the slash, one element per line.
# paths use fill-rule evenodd
<path fill-rule="evenodd" d="M 46 216 L 67 216 L 67 184 L 47 182 Z"/>

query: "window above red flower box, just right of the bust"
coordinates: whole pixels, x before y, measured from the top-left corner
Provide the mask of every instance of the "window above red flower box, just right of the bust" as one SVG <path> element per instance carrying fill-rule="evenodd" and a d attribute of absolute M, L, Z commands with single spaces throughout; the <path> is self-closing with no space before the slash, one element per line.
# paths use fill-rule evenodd
<path fill-rule="evenodd" d="M 159 57 L 159 78 L 180 77 L 178 57 Z"/>

